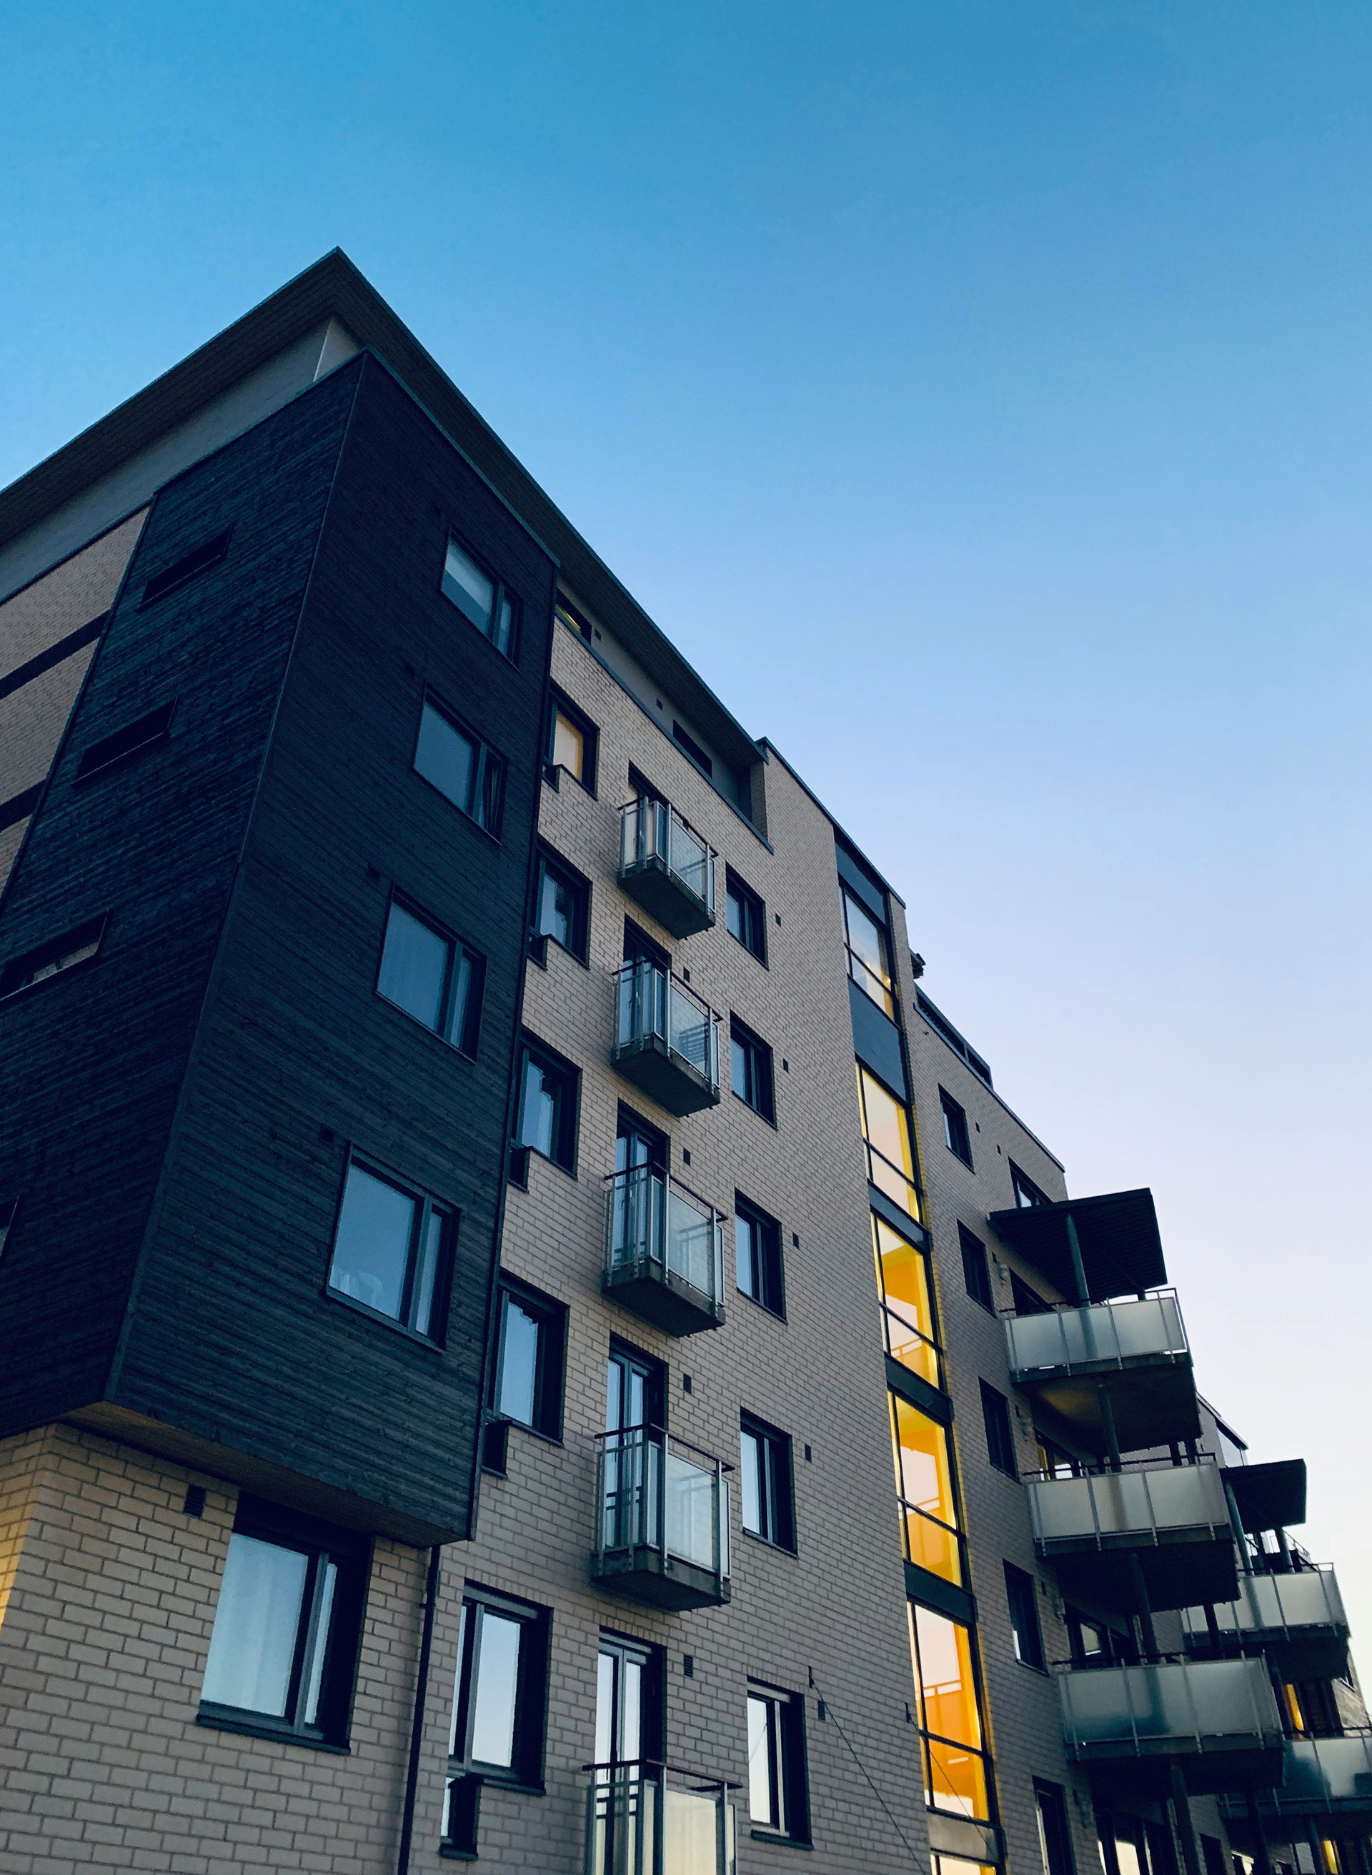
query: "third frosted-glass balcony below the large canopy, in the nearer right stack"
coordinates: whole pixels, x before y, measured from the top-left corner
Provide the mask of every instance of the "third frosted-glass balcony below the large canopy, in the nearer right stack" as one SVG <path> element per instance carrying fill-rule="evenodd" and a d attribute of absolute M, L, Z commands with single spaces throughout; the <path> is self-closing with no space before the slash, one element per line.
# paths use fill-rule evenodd
<path fill-rule="evenodd" d="M 1063 1746 L 1113 1787 L 1269 1789 L 1282 1774 L 1282 1721 L 1260 1659 L 1171 1661 L 1059 1672 Z"/>

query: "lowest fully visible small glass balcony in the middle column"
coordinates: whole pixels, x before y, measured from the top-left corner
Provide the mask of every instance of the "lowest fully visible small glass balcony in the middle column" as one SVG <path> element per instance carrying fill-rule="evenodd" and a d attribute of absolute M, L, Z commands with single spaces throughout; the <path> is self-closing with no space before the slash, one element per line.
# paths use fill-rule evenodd
<path fill-rule="evenodd" d="M 590 1581 L 654 1609 L 729 1601 L 731 1466 L 635 1425 L 596 1440 Z"/>

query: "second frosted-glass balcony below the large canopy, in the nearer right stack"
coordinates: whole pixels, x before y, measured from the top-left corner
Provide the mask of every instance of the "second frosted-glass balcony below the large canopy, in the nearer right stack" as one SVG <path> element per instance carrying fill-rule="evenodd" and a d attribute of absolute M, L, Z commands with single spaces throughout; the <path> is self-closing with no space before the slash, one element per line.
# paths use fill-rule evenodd
<path fill-rule="evenodd" d="M 1027 1478 L 1035 1549 L 1068 1594 L 1132 1607 L 1130 1552 L 1149 1607 L 1185 1609 L 1239 1590 L 1233 1526 L 1215 1464 L 1128 1464 L 1087 1478 Z"/>

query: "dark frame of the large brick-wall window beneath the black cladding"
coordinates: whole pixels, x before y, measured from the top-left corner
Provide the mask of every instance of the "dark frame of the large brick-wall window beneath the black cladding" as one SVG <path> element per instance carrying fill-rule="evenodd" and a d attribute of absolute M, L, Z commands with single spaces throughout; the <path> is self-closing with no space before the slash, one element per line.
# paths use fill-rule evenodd
<path fill-rule="evenodd" d="M 195 1723 L 210 1731 L 244 1732 L 249 1738 L 276 1738 L 281 1744 L 306 1746 L 313 1751 L 347 1751 L 367 1590 L 371 1586 L 371 1538 L 356 1530 L 341 1530 L 319 1517 L 307 1517 L 304 1511 L 272 1504 L 247 1491 L 238 1494 L 232 1536 L 251 1538 L 257 1543 L 270 1543 L 276 1549 L 289 1549 L 309 1558 L 302 1596 L 304 1607 L 302 1616 L 296 1620 L 292 1642 L 289 1716 L 277 1718 L 270 1712 L 257 1712 L 251 1706 L 232 1706 L 223 1701 L 204 1699 L 202 1674 Z M 332 1605 L 326 1614 L 328 1631 L 322 1641 L 317 1716 L 311 1723 L 304 1718 L 307 1701 L 306 1669 L 322 1612 L 321 1601 L 326 1598 L 324 1562 L 332 1562 L 337 1575 L 332 1590 Z M 223 1577 L 219 1588 L 223 1590 Z M 221 1599 L 216 1598 L 216 1622 L 219 1607 Z M 212 1648 L 214 1626 L 210 1631 Z M 208 1665 L 210 1656 L 206 1654 L 206 1671 Z"/>

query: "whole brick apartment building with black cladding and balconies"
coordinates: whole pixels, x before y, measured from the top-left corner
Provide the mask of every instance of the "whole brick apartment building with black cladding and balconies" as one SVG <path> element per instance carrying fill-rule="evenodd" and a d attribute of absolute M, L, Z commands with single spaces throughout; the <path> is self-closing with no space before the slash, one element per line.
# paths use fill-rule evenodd
<path fill-rule="evenodd" d="M 1372 1875 L 1151 1194 L 345 257 L 0 673 L 0 1868 Z"/>

